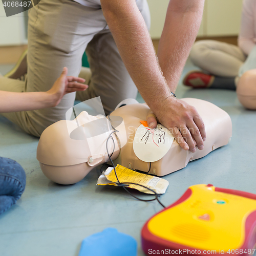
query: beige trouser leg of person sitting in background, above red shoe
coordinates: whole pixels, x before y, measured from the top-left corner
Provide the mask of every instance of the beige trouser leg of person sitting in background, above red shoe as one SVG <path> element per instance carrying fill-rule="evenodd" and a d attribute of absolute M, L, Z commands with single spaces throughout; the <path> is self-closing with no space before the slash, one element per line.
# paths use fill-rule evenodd
<path fill-rule="evenodd" d="M 215 40 L 195 42 L 189 56 L 202 70 L 224 77 L 237 76 L 246 59 L 238 46 Z"/>

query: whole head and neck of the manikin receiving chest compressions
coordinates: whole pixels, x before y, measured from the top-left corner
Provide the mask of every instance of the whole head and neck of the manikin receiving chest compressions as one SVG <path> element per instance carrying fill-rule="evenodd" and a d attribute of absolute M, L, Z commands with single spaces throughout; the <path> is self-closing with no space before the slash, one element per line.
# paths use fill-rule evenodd
<path fill-rule="evenodd" d="M 103 115 L 92 116 L 86 111 L 72 120 L 61 120 L 42 133 L 37 160 L 42 172 L 50 180 L 59 184 L 73 184 L 82 180 L 95 166 L 109 161 L 106 142 L 117 129 L 116 135 L 108 141 L 112 158 L 117 158 L 119 145 L 126 143 L 125 127 L 120 117 L 112 117 L 111 122 Z M 119 144 L 120 143 L 120 144 Z M 115 146 L 114 146 L 115 145 Z"/>

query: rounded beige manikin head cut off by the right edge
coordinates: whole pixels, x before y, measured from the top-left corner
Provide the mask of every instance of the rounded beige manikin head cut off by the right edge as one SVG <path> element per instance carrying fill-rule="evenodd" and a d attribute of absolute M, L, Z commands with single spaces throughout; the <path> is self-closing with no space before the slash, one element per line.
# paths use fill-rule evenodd
<path fill-rule="evenodd" d="M 247 109 L 256 110 L 256 69 L 246 71 L 238 81 L 237 95 Z"/>

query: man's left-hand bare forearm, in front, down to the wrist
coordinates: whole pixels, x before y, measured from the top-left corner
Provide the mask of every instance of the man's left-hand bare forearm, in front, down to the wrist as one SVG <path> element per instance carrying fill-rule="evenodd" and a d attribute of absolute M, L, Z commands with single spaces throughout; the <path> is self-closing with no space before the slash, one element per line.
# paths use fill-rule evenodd
<path fill-rule="evenodd" d="M 125 67 L 141 96 L 154 110 L 169 96 L 169 89 L 159 68 L 150 34 L 135 1 L 116 2 L 101 1 L 103 14 Z"/>

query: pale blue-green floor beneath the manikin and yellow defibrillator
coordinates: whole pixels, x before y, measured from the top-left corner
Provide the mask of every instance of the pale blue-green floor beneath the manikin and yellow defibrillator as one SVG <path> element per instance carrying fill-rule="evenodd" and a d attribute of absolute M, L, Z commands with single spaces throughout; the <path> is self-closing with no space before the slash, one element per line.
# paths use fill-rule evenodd
<path fill-rule="evenodd" d="M 185 72 L 190 69 L 188 61 Z M 0 72 L 4 73 L 1 67 Z M 176 95 L 205 99 L 225 110 L 232 119 L 233 136 L 227 146 L 165 176 L 169 187 L 161 196 L 163 204 L 173 203 L 189 186 L 200 183 L 255 193 L 256 112 L 245 110 L 233 91 L 190 90 L 179 84 Z M 141 228 L 162 207 L 136 201 L 121 188 L 96 186 L 99 169 L 75 185 L 51 182 L 36 160 L 37 143 L 37 138 L 0 117 L 0 156 L 15 159 L 27 174 L 22 198 L 0 216 L 0 255 L 77 256 L 81 241 L 106 227 L 133 236 L 138 256 L 144 255 Z"/>

